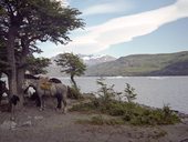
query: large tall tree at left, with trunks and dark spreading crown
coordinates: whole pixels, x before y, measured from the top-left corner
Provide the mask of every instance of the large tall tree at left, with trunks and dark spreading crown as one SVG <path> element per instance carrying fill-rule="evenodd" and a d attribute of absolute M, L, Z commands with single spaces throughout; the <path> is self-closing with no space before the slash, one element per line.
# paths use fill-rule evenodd
<path fill-rule="evenodd" d="M 79 14 L 77 9 L 61 7 L 55 0 L 0 1 L 0 37 L 7 49 L 11 94 L 21 87 L 28 55 L 40 52 L 36 41 L 67 43 L 69 32 L 84 26 Z"/>

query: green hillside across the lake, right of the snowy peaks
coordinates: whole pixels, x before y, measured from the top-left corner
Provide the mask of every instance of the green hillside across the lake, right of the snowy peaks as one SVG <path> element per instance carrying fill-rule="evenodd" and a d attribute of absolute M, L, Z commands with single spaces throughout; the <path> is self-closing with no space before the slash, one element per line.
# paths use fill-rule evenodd
<path fill-rule="evenodd" d="M 88 67 L 86 75 L 188 75 L 188 51 L 135 54 Z"/>

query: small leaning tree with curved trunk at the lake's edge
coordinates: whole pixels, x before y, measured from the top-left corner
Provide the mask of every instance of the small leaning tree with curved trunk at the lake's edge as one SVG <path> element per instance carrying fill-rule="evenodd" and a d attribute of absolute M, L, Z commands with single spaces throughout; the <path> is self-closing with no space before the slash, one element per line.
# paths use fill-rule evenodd
<path fill-rule="evenodd" d="M 62 67 L 62 72 L 71 75 L 73 85 L 79 89 L 74 77 L 84 74 L 84 71 L 86 70 L 86 65 L 83 63 L 80 57 L 73 53 L 63 53 L 60 54 L 59 59 L 55 61 L 58 65 Z"/>

